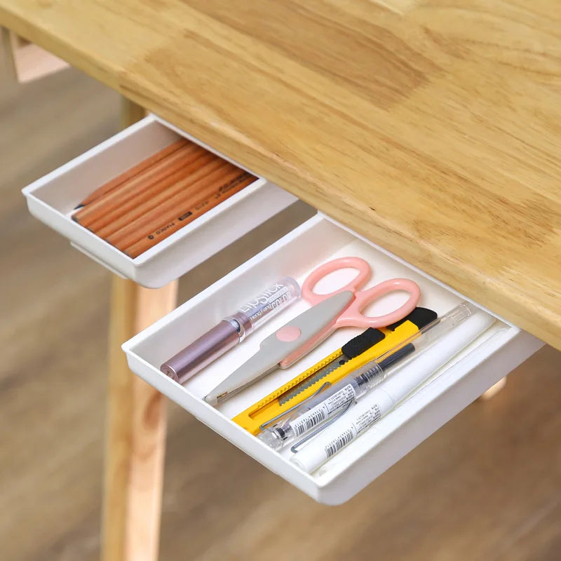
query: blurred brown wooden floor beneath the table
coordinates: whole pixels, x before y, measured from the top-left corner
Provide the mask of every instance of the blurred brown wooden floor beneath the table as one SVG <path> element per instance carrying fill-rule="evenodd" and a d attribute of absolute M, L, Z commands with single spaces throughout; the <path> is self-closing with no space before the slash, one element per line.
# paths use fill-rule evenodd
<path fill-rule="evenodd" d="M 116 130 L 69 70 L 0 78 L 0 559 L 96 560 L 109 273 L 33 219 L 20 188 Z M 262 228 L 306 216 L 302 207 Z M 255 251 L 182 279 L 180 301 Z M 232 258 L 231 255 L 236 255 Z M 170 405 L 165 561 L 557 561 L 561 353 L 545 348 L 344 506 L 314 503 Z"/>

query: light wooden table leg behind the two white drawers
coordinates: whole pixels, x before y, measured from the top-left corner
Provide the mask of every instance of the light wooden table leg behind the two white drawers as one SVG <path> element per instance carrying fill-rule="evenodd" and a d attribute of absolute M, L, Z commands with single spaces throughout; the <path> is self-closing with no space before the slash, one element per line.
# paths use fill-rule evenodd
<path fill-rule="evenodd" d="M 121 124 L 144 110 L 123 99 Z M 154 561 L 165 450 L 165 398 L 128 370 L 121 344 L 177 300 L 177 280 L 158 290 L 117 276 L 111 285 L 109 386 L 102 519 L 103 561 Z"/>

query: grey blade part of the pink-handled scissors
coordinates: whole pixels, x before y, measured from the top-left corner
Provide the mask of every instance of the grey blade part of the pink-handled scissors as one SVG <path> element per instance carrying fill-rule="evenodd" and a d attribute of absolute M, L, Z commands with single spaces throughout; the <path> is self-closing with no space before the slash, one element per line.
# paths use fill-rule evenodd
<path fill-rule="evenodd" d="M 296 318 L 285 323 L 279 330 L 263 339 L 259 351 L 245 361 L 241 367 L 234 370 L 229 377 L 218 384 L 207 396 L 206 403 L 217 405 L 236 395 L 254 381 L 269 374 L 274 370 L 285 356 L 296 351 L 316 336 L 321 330 L 329 325 L 334 318 L 339 316 L 353 299 L 354 294 L 350 290 L 339 292 L 323 302 L 316 304 Z M 278 333 L 286 327 L 296 327 L 299 336 L 292 341 L 282 341 Z"/>

